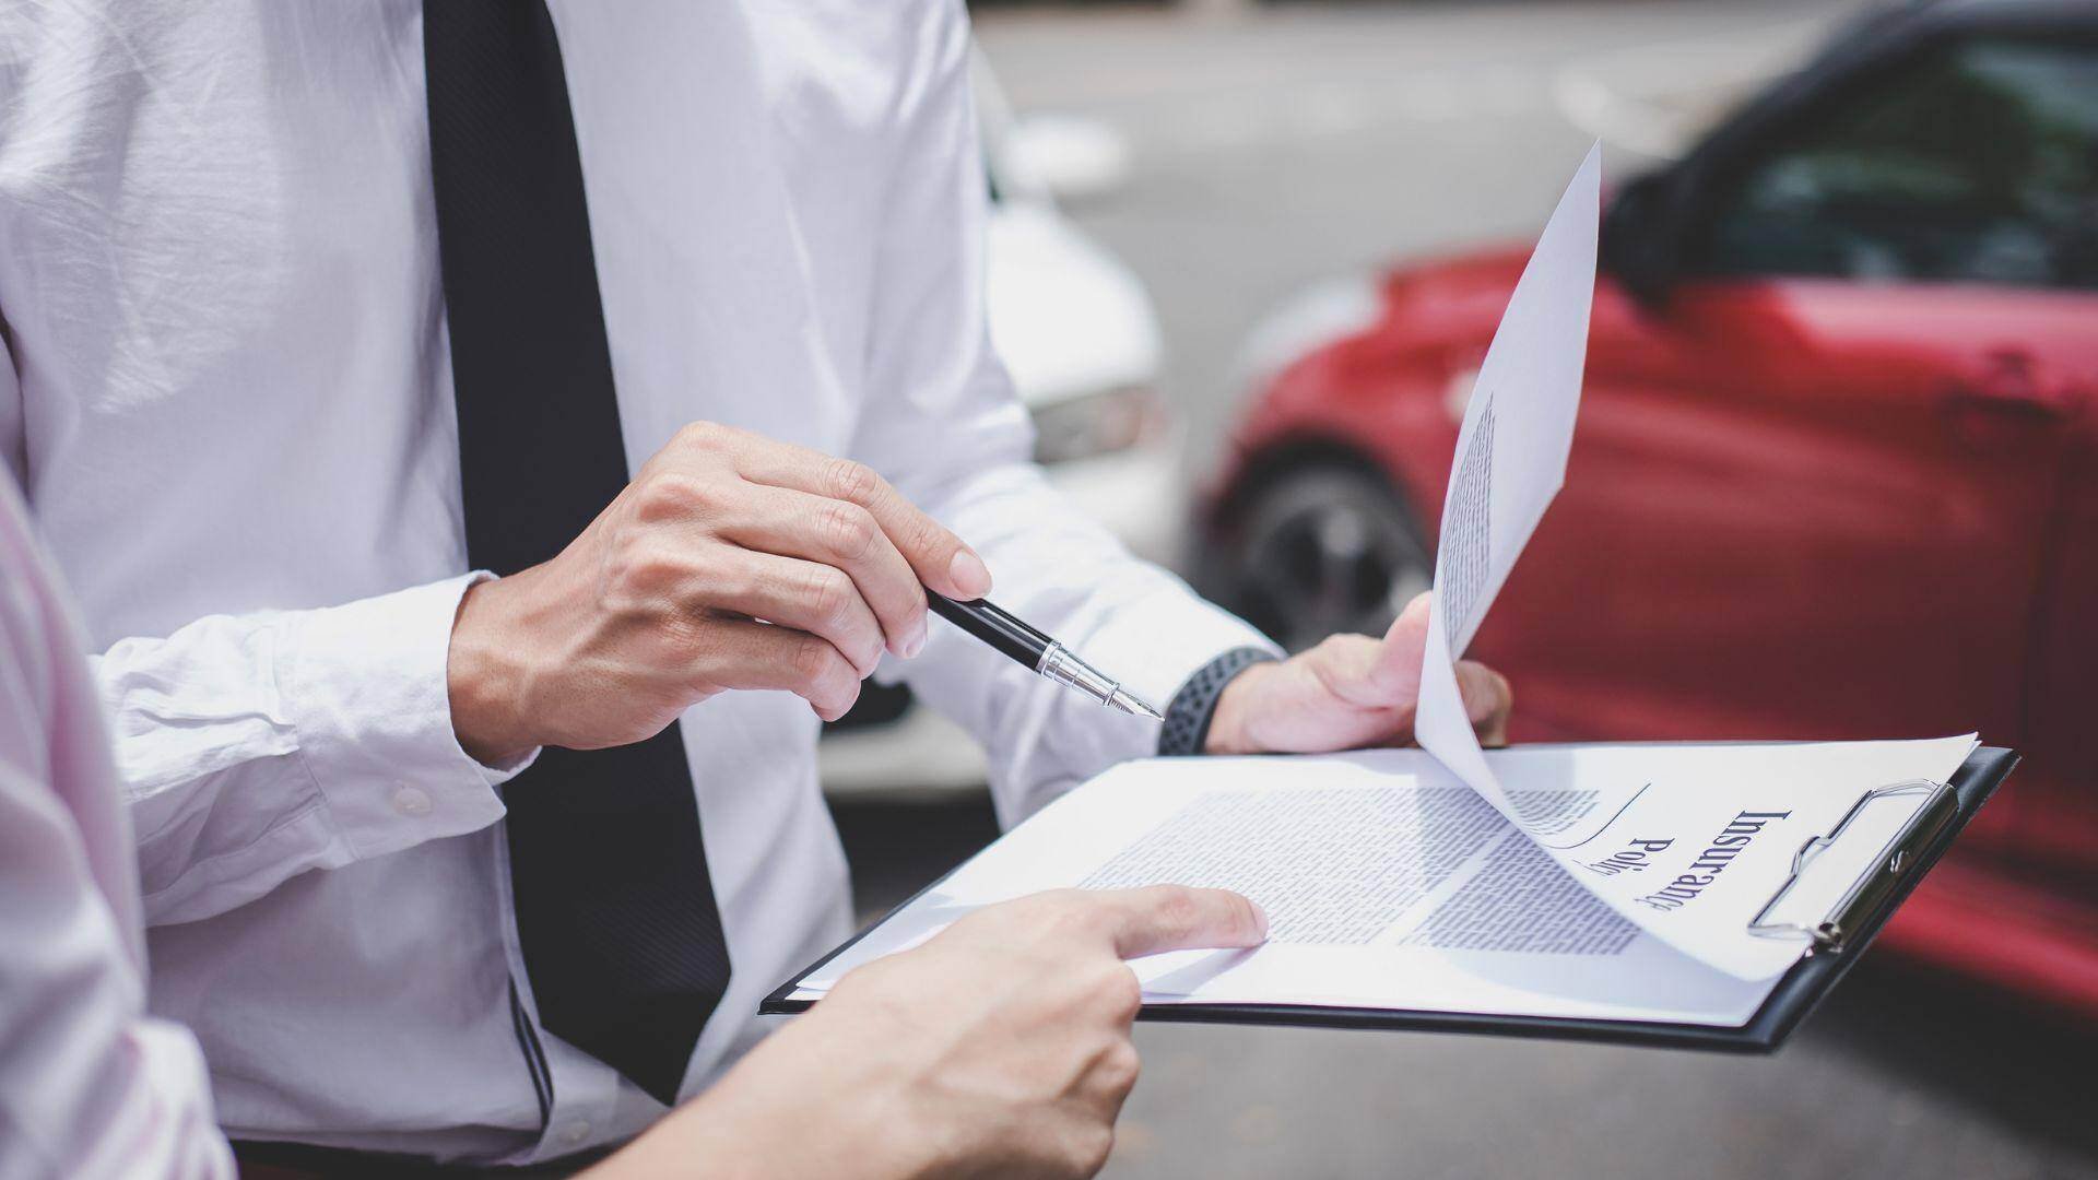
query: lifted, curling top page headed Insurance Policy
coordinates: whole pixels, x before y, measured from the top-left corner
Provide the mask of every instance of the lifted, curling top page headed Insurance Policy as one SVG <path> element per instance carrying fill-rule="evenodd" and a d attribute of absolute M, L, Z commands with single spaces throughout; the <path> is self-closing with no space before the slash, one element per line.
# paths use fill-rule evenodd
<path fill-rule="evenodd" d="M 1748 934 L 1806 836 L 1867 789 L 1951 775 L 1972 737 L 1836 747 L 1584 747 L 1487 756 L 1454 661 L 1565 481 L 1594 294 L 1601 160 L 1590 149 L 1494 332 L 1458 430 L 1435 556 L 1414 735 L 1618 915 L 1762 978 L 1804 943 Z M 1815 750 L 1775 754 L 1773 750 Z M 1519 773 L 1511 779 L 1511 773 Z M 1597 852 L 1611 846 L 1603 855 Z M 1641 859 L 1651 848 L 1651 859 Z M 1636 867 L 1628 867 L 1636 865 Z M 1668 878 L 1647 888 L 1645 873 Z"/>

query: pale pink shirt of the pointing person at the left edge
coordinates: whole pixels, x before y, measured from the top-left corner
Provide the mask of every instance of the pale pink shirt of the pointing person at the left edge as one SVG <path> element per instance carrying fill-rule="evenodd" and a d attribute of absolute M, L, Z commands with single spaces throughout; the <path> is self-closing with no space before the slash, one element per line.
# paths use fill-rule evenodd
<path fill-rule="evenodd" d="M 0 1180 L 231 1176 L 195 1037 L 145 1014 L 130 821 L 80 642 L 0 477 Z"/>

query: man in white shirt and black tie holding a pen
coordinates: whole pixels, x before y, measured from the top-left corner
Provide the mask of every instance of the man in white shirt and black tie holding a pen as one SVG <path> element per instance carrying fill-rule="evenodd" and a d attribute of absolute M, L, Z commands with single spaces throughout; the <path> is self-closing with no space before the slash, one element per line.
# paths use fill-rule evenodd
<path fill-rule="evenodd" d="M 1169 752 L 1408 739 L 1416 645 L 1271 661 L 1026 462 L 965 55 L 959 0 L 0 17 L 0 456 L 235 1138 L 558 1159 L 718 1077 L 848 928 L 814 739 L 877 663 L 1005 821 L 1162 747 L 917 582 Z"/>

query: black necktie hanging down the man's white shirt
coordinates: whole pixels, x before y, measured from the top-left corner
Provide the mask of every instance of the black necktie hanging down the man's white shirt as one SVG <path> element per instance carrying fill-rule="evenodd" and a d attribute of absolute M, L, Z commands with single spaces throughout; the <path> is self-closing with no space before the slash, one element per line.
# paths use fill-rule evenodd
<path fill-rule="evenodd" d="M 541 0 L 426 0 L 422 23 L 466 552 L 514 573 L 627 483 L 583 168 Z M 545 750 L 504 800 L 539 1020 L 676 1102 L 728 987 L 678 726 Z"/>

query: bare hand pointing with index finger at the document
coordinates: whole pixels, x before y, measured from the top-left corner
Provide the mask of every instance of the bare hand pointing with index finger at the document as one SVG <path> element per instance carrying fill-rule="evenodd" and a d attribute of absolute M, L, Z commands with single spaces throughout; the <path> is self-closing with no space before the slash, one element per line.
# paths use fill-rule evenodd
<path fill-rule="evenodd" d="M 604 1176 L 1091 1176 L 1137 1081 L 1122 960 L 1255 947 L 1236 892 L 1059 890 L 837 983 Z"/>

